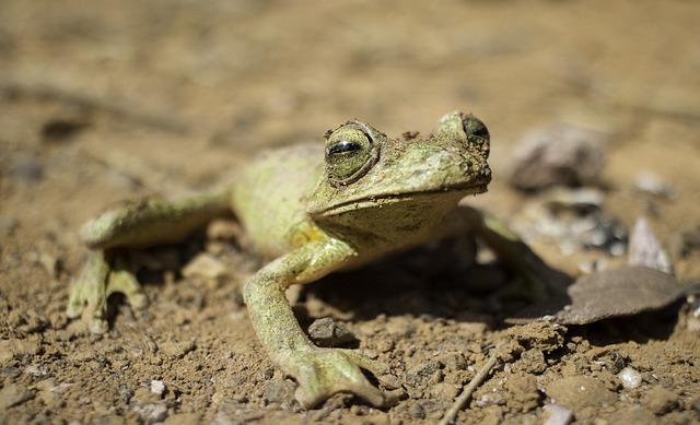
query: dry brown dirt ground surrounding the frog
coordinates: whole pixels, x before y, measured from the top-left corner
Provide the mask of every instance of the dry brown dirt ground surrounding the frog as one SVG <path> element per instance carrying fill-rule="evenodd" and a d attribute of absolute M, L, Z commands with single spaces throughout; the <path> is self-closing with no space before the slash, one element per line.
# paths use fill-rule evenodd
<path fill-rule="evenodd" d="M 492 138 L 494 180 L 470 204 L 524 221 L 541 201 L 506 182 L 517 141 L 561 122 L 603 132 L 603 213 L 626 229 L 645 216 L 678 280 L 697 281 L 698 22 L 700 5 L 681 0 L 3 0 L 0 423 L 432 424 L 503 341 L 513 358 L 458 423 L 700 423 L 700 326 L 685 299 L 587 326 L 509 326 L 493 262 L 456 279 L 418 252 L 294 294 L 304 328 L 330 317 L 392 367 L 406 396 L 387 409 L 346 394 L 299 406 L 242 302 L 261 264 L 244 241 L 200 235 L 136 256 L 151 304 L 113 299 L 105 335 L 65 314 L 88 255 L 78 229 L 110 202 L 222 185 L 264 147 L 320 140 L 348 118 L 427 133 L 454 109 Z M 666 196 L 637 190 L 642 173 Z M 620 262 L 532 243 L 574 276 Z M 229 272 L 184 276 L 202 252 Z"/>

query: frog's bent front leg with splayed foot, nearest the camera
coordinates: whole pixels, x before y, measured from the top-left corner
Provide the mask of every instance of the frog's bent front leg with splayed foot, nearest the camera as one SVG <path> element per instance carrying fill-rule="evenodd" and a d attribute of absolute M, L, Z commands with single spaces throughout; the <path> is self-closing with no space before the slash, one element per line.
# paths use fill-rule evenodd
<path fill-rule="evenodd" d="M 304 334 L 284 290 L 292 284 L 315 281 L 354 256 L 347 244 L 324 238 L 278 258 L 258 271 L 245 286 L 245 302 L 256 333 L 272 362 L 296 379 L 296 400 L 313 408 L 337 392 L 350 392 L 382 406 L 393 396 L 374 387 L 363 375 L 377 377 L 388 368 L 351 350 L 322 349 Z"/>

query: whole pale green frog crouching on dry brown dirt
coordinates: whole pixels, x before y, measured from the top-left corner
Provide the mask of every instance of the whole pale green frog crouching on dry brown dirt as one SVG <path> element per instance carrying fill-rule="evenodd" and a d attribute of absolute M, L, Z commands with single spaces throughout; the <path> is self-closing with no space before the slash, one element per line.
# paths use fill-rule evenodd
<path fill-rule="evenodd" d="M 269 259 L 244 284 L 249 319 L 272 363 L 298 382 L 300 404 L 311 409 L 345 392 L 375 406 L 392 405 L 400 390 L 388 383 L 381 388 L 389 368 L 355 350 L 316 346 L 285 291 L 472 233 L 515 271 L 534 275 L 541 264 L 529 248 L 508 226 L 460 202 L 487 191 L 489 152 L 489 131 L 471 114 L 444 115 L 424 138 L 389 138 L 352 119 L 327 131 L 323 144 L 281 147 L 252 161 L 223 190 L 112 208 L 81 229 L 91 255 L 67 315 L 82 316 L 94 333 L 106 332 L 109 295 L 124 295 L 133 308 L 148 304 L 119 252 L 177 243 L 233 212 L 256 252 Z"/>

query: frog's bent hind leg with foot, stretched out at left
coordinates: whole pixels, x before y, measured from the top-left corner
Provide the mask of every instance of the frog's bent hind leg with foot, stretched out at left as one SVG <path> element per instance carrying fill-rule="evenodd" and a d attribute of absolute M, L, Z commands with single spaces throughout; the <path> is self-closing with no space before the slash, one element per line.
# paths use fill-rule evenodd
<path fill-rule="evenodd" d="M 93 251 L 72 288 L 68 317 L 84 315 L 91 332 L 104 333 L 109 295 L 124 294 L 135 308 L 145 306 L 148 298 L 119 250 L 182 240 L 228 211 L 228 200 L 225 191 L 178 201 L 141 199 L 124 202 L 86 223 L 81 238 Z"/>

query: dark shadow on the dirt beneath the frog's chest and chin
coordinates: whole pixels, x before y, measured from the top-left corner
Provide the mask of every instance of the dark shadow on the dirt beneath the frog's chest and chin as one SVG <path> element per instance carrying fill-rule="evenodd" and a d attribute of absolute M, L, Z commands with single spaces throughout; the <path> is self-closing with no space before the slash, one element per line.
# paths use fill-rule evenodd
<path fill-rule="evenodd" d="M 486 321 L 497 326 L 530 302 L 513 296 L 520 280 L 499 262 L 462 264 L 447 249 L 416 248 L 362 269 L 330 274 L 304 285 L 295 311 L 304 323 L 315 314 L 303 308 L 317 298 L 353 320 L 416 316 Z M 447 253 L 446 253 L 447 252 Z M 510 294 L 510 295 L 509 295 Z M 299 308 L 302 307 L 302 308 Z M 313 318 L 310 318 L 312 316 Z M 331 314 L 332 317 L 332 314 Z"/>

